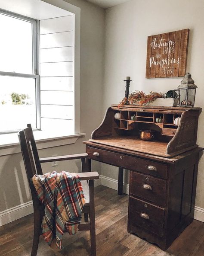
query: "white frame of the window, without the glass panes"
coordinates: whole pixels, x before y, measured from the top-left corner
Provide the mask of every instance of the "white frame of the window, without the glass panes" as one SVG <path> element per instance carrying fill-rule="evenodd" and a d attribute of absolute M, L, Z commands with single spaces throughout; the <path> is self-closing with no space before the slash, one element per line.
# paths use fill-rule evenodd
<path fill-rule="evenodd" d="M 33 74 L 22 74 L 22 73 L 0 71 L 0 76 L 25 77 L 25 78 L 35 79 L 36 128 L 34 128 L 34 130 L 40 130 L 39 21 L 36 19 L 31 19 L 29 17 L 16 14 L 16 13 L 8 12 L 2 9 L 0 9 L 0 14 L 32 23 Z M 19 130 L 0 131 L 0 134 L 16 133 L 18 131 Z"/>

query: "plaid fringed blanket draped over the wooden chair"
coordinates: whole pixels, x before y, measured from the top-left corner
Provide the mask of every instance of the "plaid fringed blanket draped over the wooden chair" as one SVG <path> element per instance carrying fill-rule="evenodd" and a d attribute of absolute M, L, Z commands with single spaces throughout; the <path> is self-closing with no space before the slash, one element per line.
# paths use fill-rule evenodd
<path fill-rule="evenodd" d="M 81 211 L 86 204 L 79 176 L 76 173 L 46 173 L 33 176 L 37 196 L 45 205 L 42 221 L 43 237 L 51 245 L 56 238 L 62 249 L 62 235 L 77 232 Z"/>

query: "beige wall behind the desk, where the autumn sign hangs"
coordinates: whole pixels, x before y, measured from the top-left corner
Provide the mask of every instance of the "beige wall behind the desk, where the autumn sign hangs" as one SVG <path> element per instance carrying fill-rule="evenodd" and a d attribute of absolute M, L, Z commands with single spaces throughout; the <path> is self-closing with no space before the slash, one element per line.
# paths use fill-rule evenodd
<path fill-rule="evenodd" d="M 124 97 L 124 78 L 131 76 L 130 92 L 167 92 L 182 78 L 145 79 L 147 36 L 190 29 L 187 72 L 198 85 L 195 105 L 204 108 L 204 1 L 132 0 L 106 10 L 105 78 L 103 112 Z M 198 128 L 198 144 L 204 146 L 204 114 Z M 200 160 L 196 205 L 204 208 L 204 157 Z M 117 168 L 102 165 L 102 175 L 117 179 Z M 127 177 L 125 178 L 127 181 Z"/>

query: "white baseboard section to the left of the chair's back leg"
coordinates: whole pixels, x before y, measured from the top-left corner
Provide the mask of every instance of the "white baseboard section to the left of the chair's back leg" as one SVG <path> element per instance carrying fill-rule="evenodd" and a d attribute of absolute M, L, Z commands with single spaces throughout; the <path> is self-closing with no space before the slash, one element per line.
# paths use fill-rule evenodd
<path fill-rule="evenodd" d="M 33 213 L 33 202 L 29 201 L 0 212 L 0 227 Z"/>

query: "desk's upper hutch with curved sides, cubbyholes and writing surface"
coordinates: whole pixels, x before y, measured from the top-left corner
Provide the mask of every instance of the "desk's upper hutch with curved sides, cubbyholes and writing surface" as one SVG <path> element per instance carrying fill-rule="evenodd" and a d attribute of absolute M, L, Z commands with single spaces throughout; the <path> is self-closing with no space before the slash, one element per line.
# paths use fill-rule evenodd
<path fill-rule="evenodd" d="M 119 112 L 120 119 L 114 115 Z M 173 157 L 198 147 L 198 116 L 201 108 L 112 105 L 90 141 L 127 150 Z M 175 119 L 180 117 L 179 124 Z M 159 122 L 158 122 L 159 118 Z M 154 130 L 153 141 L 139 139 L 139 130 Z"/>

